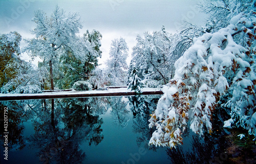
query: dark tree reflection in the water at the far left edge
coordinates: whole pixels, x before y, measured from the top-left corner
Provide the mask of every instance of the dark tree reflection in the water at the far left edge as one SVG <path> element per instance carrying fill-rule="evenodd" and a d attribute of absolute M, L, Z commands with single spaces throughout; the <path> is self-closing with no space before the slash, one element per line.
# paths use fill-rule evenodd
<path fill-rule="evenodd" d="M 9 150 L 22 150 L 26 145 L 23 138 L 24 125 L 31 113 L 31 106 L 38 106 L 35 100 L 21 100 L 21 101 L 3 101 L 0 102 L 0 126 L 1 126 L 1 139 L 3 139 L 4 132 L 4 109 L 8 108 L 8 149 Z M 4 147 L 4 143 L 1 142 L 1 146 Z"/>

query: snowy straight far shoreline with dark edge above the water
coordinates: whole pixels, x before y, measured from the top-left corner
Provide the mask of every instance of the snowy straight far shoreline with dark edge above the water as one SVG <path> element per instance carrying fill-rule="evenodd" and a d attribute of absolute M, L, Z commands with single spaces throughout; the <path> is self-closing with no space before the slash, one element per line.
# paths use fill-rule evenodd
<path fill-rule="evenodd" d="M 142 95 L 163 94 L 158 88 L 143 88 Z M 110 88 L 109 90 L 91 91 L 60 91 L 35 94 L 0 94 L 0 101 L 26 100 L 26 99 L 48 99 L 48 98 L 74 98 L 74 97 L 100 97 L 100 96 L 130 96 L 136 95 L 134 91 L 127 88 Z"/>

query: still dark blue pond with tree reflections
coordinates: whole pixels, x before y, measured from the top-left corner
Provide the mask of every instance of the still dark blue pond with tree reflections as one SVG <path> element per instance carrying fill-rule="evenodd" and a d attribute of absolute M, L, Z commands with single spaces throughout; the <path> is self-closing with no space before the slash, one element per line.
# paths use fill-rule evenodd
<path fill-rule="evenodd" d="M 182 135 L 183 145 L 177 149 L 148 146 L 155 129 L 148 128 L 147 120 L 159 98 L 160 95 L 143 95 L 2 101 L 1 116 L 8 117 L 8 126 L 2 128 L 2 119 L 1 163 L 7 163 L 6 157 L 8 163 L 208 163 L 216 157 L 224 160 L 221 129 L 200 138 L 187 128 Z"/>

